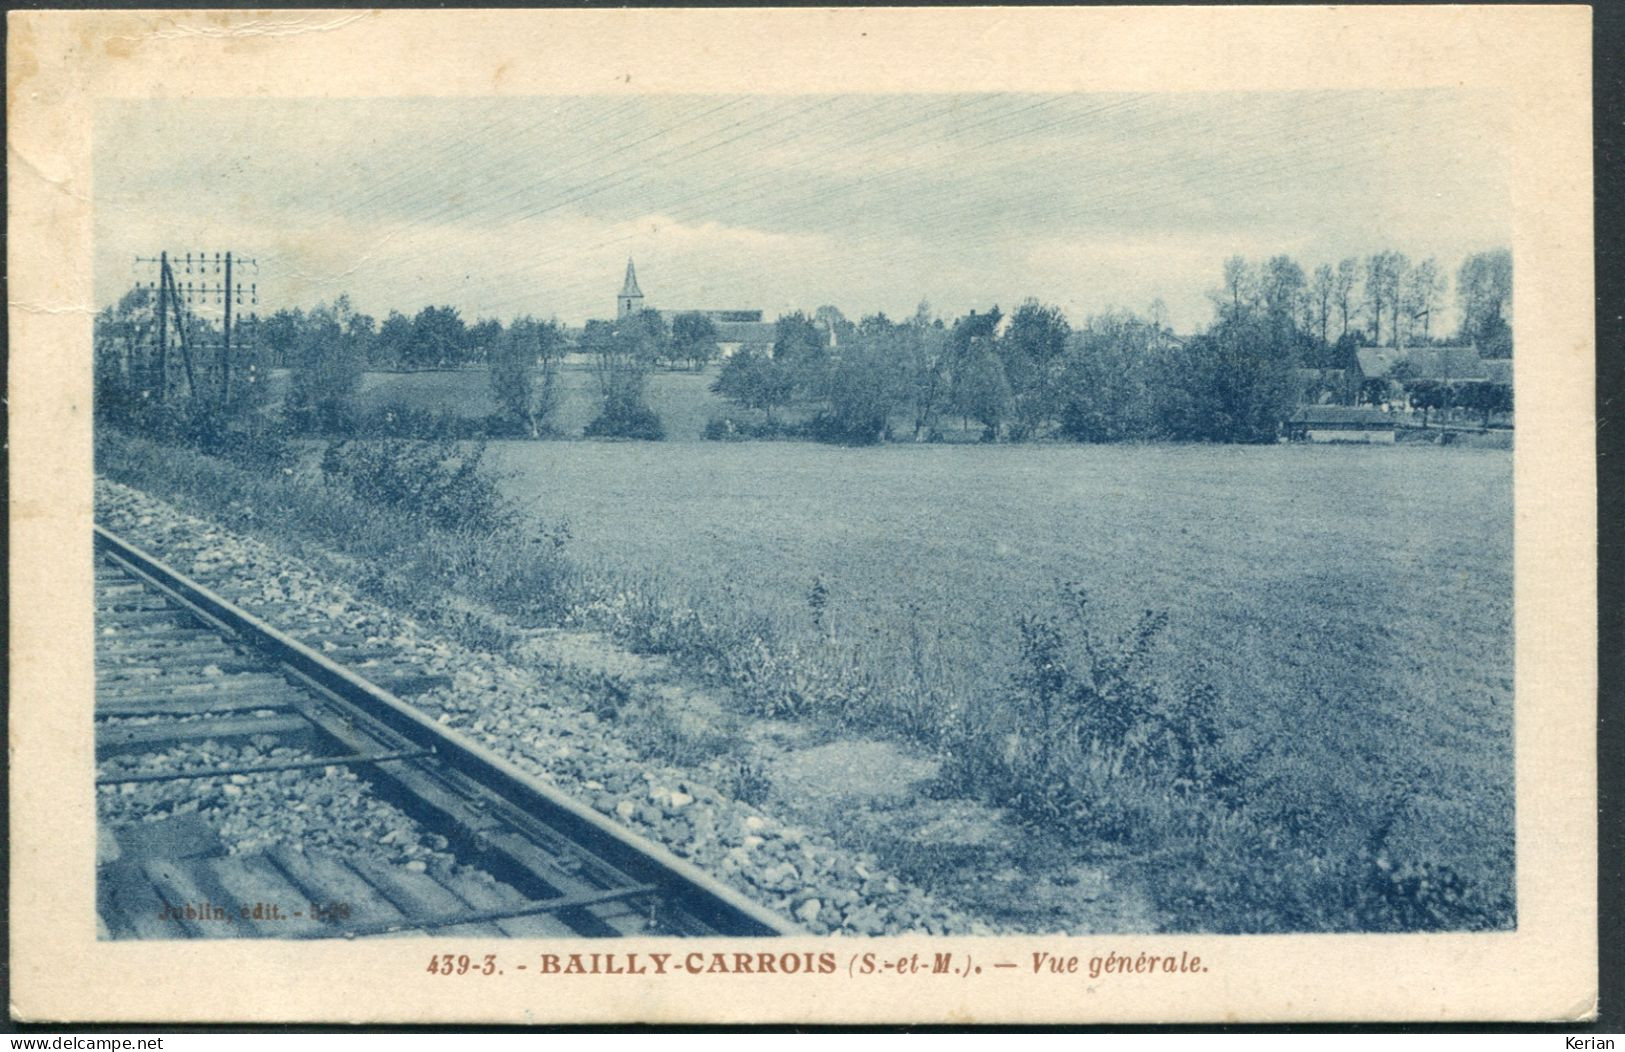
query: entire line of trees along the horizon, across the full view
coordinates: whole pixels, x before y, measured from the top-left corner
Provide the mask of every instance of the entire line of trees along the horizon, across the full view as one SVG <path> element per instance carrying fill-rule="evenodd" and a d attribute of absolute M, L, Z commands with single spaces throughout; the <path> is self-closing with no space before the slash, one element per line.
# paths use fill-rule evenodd
<path fill-rule="evenodd" d="M 904 320 L 873 314 L 852 322 L 834 306 L 798 311 L 775 322 L 770 348 L 741 348 L 712 384 L 762 419 L 717 421 L 708 433 L 796 433 L 868 444 L 933 441 L 957 421 L 980 426 L 983 441 L 1268 442 L 1300 398 L 1295 371 L 1354 377 L 1360 346 L 1454 338 L 1485 358 L 1511 356 L 1506 250 L 1471 255 L 1458 268 L 1454 333 L 1441 333 L 1436 322 L 1450 281 L 1433 259 L 1412 262 L 1384 250 L 1305 272 L 1289 255 L 1230 257 L 1217 276 L 1209 291 L 1212 320 L 1188 335 L 1170 328 L 1160 301 L 1144 314 L 1108 311 L 1077 327 L 1060 307 L 1037 299 L 1008 317 L 994 307 L 952 320 L 928 304 Z M 151 291 L 133 289 L 98 315 L 99 403 L 208 402 L 206 387 L 202 397 L 193 390 L 195 379 L 184 392 L 176 377 L 167 379 L 169 389 L 154 390 L 150 369 L 143 372 L 138 348 L 151 343 L 153 314 Z M 190 312 L 182 324 L 192 327 L 193 345 L 219 340 L 210 322 Z M 236 354 L 247 361 L 237 402 L 262 403 L 270 367 L 283 366 L 289 372 L 286 421 L 328 433 L 354 429 L 354 397 L 369 367 L 484 363 L 500 426 L 541 436 L 551 431 L 559 366 L 574 346 L 590 361 L 601 400 L 588 434 L 660 437 L 661 421 L 647 400 L 648 376 L 663 367 L 702 369 L 720 356 L 708 317 L 684 314 L 668 324 L 658 311 L 588 322 L 574 341 L 554 320 L 522 315 L 507 325 L 496 319 L 466 324 L 447 306 L 411 317 L 392 311 L 379 325 L 348 296 L 240 325 Z M 1357 402 L 1381 392 L 1350 384 L 1334 393 Z M 1485 408 L 1500 405 L 1497 390 L 1433 390 L 1424 382 L 1410 393 L 1424 418 L 1451 405 L 1480 410 L 1485 419 L 1505 411 Z"/>

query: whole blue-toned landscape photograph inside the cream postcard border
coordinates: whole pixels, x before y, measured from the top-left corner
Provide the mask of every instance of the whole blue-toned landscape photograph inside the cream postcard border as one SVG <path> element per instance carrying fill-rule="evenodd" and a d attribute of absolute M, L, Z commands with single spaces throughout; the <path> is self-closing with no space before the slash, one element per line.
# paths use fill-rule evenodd
<path fill-rule="evenodd" d="M 99 102 L 99 937 L 1514 930 L 1497 106 Z"/>

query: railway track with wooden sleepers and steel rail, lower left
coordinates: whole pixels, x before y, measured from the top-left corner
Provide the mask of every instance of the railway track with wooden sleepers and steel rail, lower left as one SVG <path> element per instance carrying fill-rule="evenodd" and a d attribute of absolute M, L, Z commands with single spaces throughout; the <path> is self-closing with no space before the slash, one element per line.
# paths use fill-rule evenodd
<path fill-rule="evenodd" d="M 795 932 L 341 663 L 367 654 L 296 641 L 96 528 L 101 937 Z M 281 800 L 340 800 L 328 826 L 385 815 L 382 839 L 416 847 L 275 828 L 231 847 L 208 816 L 249 797 L 273 824 L 309 806 Z"/>

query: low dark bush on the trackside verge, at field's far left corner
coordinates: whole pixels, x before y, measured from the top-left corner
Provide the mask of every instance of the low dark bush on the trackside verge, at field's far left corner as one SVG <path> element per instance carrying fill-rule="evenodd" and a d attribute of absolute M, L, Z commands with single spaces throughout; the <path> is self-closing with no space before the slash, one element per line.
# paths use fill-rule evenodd
<path fill-rule="evenodd" d="M 405 511 L 442 530 L 491 533 L 515 524 L 497 480 L 481 472 L 484 446 L 453 442 L 333 442 L 322 475 L 359 499 Z"/>

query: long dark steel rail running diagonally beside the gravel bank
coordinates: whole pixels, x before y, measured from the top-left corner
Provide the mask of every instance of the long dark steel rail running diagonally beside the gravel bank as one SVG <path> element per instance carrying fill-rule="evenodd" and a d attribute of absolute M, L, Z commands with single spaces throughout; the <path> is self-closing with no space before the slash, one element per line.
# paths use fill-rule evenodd
<path fill-rule="evenodd" d="M 658 898 L 705 924 L 717 935 L 772 937 L 803 933 L 772 911 L 746 899 L 678 859 L 665 847 L 616 826 L 596 811 L 543 784 L 468 737 L 436 724 L 387 689 L 335 663 L 320 652 L 242 610 L 206 585 L 182 574 L 158 556 L 94 527 L 99 554 L 176 600 L 205 623 L 250 646 L 328 696 L 353 706 L 387 727 L 413 748 L 434 753 L 434 761 L 478 784 L 492 795 L 569 839 L 585 854 L 653 888 Z"/>

